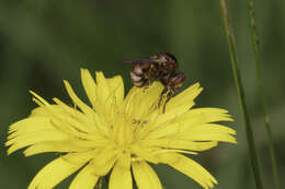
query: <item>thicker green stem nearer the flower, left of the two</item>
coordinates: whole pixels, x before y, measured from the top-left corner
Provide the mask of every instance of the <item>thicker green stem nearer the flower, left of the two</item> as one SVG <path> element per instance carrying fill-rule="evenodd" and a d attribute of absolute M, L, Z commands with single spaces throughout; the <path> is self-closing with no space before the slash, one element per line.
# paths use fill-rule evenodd
<path fill-rule="evenodd" d="M 260 168 L 259 168 L 259 162 L 258 162 L 258 156 L 256 156 L 256 151 L 255 151 L 253 132 L 252 132 L 251 125 L 250 125 L 250 118 L 249 118 L 248 108 L 247 108 L 247 104 L 246 104 L 244 91 L 243 91 L 243 86 L 242 86 L 241 79 L 240 79 L 240 71 L 239 71 L 239 67 L 238 67 L 238 57 L 237 57 L 235 36 L 233 36 L 233 33 L 229 25 L 229 17 L 228 17 L 226 0 L 220 0 L 220 7 L 221 7 L 221 12 L 223 12 L 224 25 L 225 25 L 225 29 L 226 29 L 226 36 L 227 36 L 227 40 L 228 40 L 228 48 L 229 48 L 229 54 L 230 54 L 231 67 L 232 67 L 232 71 L 233 71 L 233 78 L 235 78 L 237 92 L 238 92 L 238 96 L 239 96 L 239 105 L 241 107 L 240 109 L 241 109 L 241 114 L 242 114 L 242 117 L 244 120 L 244 128 L 246 128 L 247 141 L 248 141 L 248 146 L 249 146 L 251 166 L 252 166 L 254 180 L 255 180 L 255 187 L 256 187 L 256 189 L 262 189 L 263 187 L 262 187 L 262 181 L 261 181 L 261 176 L 260 176 Z"/>

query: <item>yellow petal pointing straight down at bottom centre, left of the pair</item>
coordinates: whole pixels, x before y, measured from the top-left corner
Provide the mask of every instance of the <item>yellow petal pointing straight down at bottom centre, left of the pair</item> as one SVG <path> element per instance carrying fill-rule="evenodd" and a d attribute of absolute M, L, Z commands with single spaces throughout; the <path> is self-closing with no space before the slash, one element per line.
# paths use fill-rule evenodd
<path fill-rule="evenodd" d="M 109 189 L 133 189 L 130 154 L 123 154 L 116 162 L 109 181 Z"/>

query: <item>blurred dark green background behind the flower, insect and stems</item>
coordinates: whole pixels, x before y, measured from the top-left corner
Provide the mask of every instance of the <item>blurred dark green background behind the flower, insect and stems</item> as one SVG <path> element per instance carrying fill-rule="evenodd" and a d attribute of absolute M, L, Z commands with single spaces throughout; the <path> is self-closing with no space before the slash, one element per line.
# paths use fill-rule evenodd
<path fill-rule="evenodd" d="M 281 178 L 285 177 L 284 81 L 285 1 L 255 2 L 261 38 L 263 75 L 275 140 Z M 253 52 L 246 0 L 230 1 L 242 81 L 262 169 L 264 188 L 273 188 L 266 134 L 256 88 Z M 186 74 L 184 87 L 201 82 L 205 91 L 196 107 L 227 108 L 238 131 L 238 144 L 219 147 L 194 157 L 218 180 L 219 189 L 254 188 L 244 129 L 239 114 L 232 71 L 218 1 L 133 0 L 1 0 L 0 1 L 0 186 L 26 188 L 33 176 L 56 155 L 9 157 L 3 143 L 9 125 L 25 118 L 32 108 L 27 90 L 46 99 L 56 96 L 68 104 L 62 80 L 70 81 L 86 99 L 80 68 L 122 74 L 130 87 L 129 66 L 137 57 L 169 51 Z M 201 187 L 170 167 L 155 166 L 166 189 Z M 67 188 L 70 178 L 57 188 Z M 282 186 L 285 186 L 282 179 Z"/>

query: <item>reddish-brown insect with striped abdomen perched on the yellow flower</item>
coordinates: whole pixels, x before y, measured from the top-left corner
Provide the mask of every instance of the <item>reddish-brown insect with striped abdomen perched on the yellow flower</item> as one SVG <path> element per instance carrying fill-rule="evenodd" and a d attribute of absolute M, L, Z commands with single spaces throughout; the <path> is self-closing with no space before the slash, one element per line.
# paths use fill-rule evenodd
<path fill-rule="evenodd" d="M 132 83 L 137 87 L 150 85 L 155 80 L 160 81 L 164 90 L 160 95 L 158 106 L 161 105 L 162 96 L 166 94 L 167 99 L 163 105 L 163 113 L 166 111 L 166 104 L 182 86 L 185 75 L 178 71 L 176 58 L 169 52 L 161 52 L 150 56 L 149 58 L 137 58 L 125 63 L 134 63 L 129 74 Z"/>

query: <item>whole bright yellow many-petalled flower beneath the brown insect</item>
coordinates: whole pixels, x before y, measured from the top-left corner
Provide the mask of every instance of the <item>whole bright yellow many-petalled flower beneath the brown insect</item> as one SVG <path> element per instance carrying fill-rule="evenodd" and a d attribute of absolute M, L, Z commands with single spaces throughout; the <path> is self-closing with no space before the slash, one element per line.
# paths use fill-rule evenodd
<path fill-rule="evenodd" d="M 31 92 L 39 107 L 10 126 L 8 154 L 22 147 L 27 147 L 26 156 L 62 154 L 34 177 L 29 189 L 53 188 L 77 170 L 69 189 L 93 189 L 110 172 L 110 189 L 132 189 L 133 177 L 139 189 L 162 189 L 148 163 L 168 164 L 206 189 L 217 184 L 205 168 L 182 155 L 212 149 L 218 141 L 236 143 L 235 130 L 214 123 L 231 121 L 227 110 L 192 109 L 202 91 L 200 84 L 171 98 L 162 114 L 158 101 L 163 86 L 159 82 L 148 88 L 133 87 L 124 97 L 121 76 L 106 79 L 96 72 L 94 82 L 81 69 L 81 80 L 91 107 L 64 81 L 75 106 L 58 98 L 49 104 Z"/>

